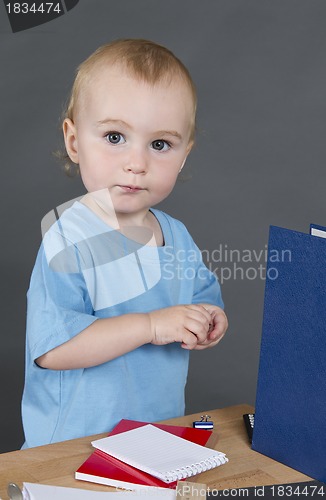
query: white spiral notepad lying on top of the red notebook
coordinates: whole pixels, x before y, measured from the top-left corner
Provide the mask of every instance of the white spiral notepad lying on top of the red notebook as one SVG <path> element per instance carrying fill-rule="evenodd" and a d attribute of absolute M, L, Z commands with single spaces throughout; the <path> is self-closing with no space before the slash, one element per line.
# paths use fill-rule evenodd
<path fill-rule="evenodd" d="M 150 424 L 97 439 L 92 441 L 92 445 L 165 483 L 185 479 L 228 462 L 224 453 Z"/>

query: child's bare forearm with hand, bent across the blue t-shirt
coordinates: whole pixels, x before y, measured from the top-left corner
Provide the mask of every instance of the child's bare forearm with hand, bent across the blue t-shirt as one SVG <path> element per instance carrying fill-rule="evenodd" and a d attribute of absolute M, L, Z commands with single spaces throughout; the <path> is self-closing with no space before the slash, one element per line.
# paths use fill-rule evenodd
<path fill-rule="evenodd" d="M 37 358 L 36 363 L 52 370 L 87 368 L 148 343 L 180 342 L 186 349 L 195 349 L 207 341 L 211 321 L 206 306 L 199 304 L 98 319 L 71 340 Z"/>

